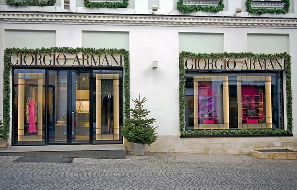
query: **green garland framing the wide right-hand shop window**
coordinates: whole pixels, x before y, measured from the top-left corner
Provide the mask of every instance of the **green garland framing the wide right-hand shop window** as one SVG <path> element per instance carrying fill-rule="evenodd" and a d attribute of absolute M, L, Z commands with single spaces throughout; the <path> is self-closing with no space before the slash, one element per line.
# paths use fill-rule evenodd
<path fill-rule="evenodd" d="M 286 60 L 286 94 L 287 94 L 287 130 L 255 130 L 255 129 L 241 129 L 241 130 L 227 130 L 230 131 L 226 133 L 226 130 L 187 130 L 185 131 L 185 69 L 184 69 L 184 57 L 191 58 L 224 58 L 224 57 L 233 57 L 233 58 L 244 58 L 244 57 L 253 57 L 257 59 L 278 59 L 284 58 Z M 293 129 L 293 115 L 292 115 L 292 86 L 291 86 L 291 56 L 288 53 L 281 54 L 253 54 L 253 53 L 211 53 L 211 54 L 195 54 L 191 52 L 181 52 L 179 54 L 179 101 L 180 101 L 180 134 L 181 135 L 211 135 L 211 134 L 286 134 L 292 133 Z M 247 132 L 248 131 L 248 132 Z"/>

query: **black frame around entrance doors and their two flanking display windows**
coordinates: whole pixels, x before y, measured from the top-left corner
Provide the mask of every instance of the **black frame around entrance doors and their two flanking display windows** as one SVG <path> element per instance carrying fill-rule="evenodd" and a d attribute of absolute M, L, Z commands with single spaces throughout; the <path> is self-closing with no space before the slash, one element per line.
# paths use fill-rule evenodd
<path fill-rule="evenodd" d="M 124 72 L 123 72 L 123 68 L 122 67 L 115 67 L 115 66 L 110 66 L 110 67 L 52 67 L 52 68 L 49 68 L 47 66 L 40 66 L 38 68 L 36 67 L 31 67 L 31 66 L 13 66 L 12 67 L 12 73 L 14 72 L 15 69 L 41 69 L 41 70 L 45 70 L 45 129 L 44 129 L 44 134 L 43 134 L 43 141 L 44 143 L 43 144 L 28 144 L 28 143 L 25 143 L 25 144 L 18 144 L 17 140 L 15 140 L 15 138 L 17 138 L 17 136 L 15 136 L 15 131 L 17 131 L 17 129 L 15 129 L 14 127 L 12 127 L 12 145 L 13 146 L 43 146 L 43 145 L 72 145 L 72 144 L 76 144 L 76 145 L 79 145 L 79 144 L 122 144 L 123 143 L 123 140 L 94 140 L 94 126 L 93 126 L 93 105 L 94 105 L 94 102 L 93 102 L 93 92 L 94 92 L 94 70 L 117 70 L 117 71 L 121 71 L 122 72 L 122 76 L 124 75 Z M 70 118 L 70 115 L 69 115 L 69 106 L 70 106 L 70 100 L 67 99 L 67 118 L 68 118 L 68 121 L 67 121 L 67 141 L 66 143 L 49 143 L 49 71 L 66 71 L 67 72 L 67 97 L 69 98 L 70 96 L 70 91 L 68 89 L 69 88 L 69 85 L 71 83 L 70 81 L 70 73 L 73 72 L 73 71 L 79 71 L 79 72 L 89 72 L 90 73 L 90 81 L 89 81 L 89 87 L 90 87 L 90 129 L 89 129 L 89 132 L 90 132 L 90 135 L 89 135 L 89 142 L 88 143 L 70 143 L 70 137 L 69 137 L 69 118 Z M 124 76 L 120 79 L 121 80 L 121 83 L 122 83 L 122 87 L 121 87 L 121 90 L 122 91 L 122 97 L 123 98 L 123 82 L 124 82 Z M 14 77 L 12 77 L 12 88 L 14 88 Z M 12 90 L 13 91 L 13 90 Z M 12 96 L 13 97 L 13 96 Z M 123 99 L 122 99 L 123 101 Z M 122 107 L 120 108 L 122 111 L 122 114 L 123 114 L 123 105 L 124 103 L 122 102 Z M 14 109 L 14 103 L 13 103 L 13 100 L 11 101 L 11 106 L 12 106 L 12 113 L 14 113 L 16 110 Z M 14 116 L 12 116 L 12 126 L 14 124 Z M 120 123 L 123 123 L 123 116 L 122 118 L 120 119 Z M 121 132 L 120 132 L 121 133 Z M 96 136 L 95 136 L 96 137 Z M 121 137 L 121 135 L 120 135 Z M 16 141 L 16 142 L 15 142 Z M 94 143 L 96 142 L 96 143 Z"/>

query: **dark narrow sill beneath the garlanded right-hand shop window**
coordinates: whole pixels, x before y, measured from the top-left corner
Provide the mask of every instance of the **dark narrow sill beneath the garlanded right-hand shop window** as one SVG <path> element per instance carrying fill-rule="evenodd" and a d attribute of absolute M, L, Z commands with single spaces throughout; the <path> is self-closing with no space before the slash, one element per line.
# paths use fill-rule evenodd
<path fill-rule="evenodd" d="M 205 137 L 286 137 L 293 136 L 288 134 L 226 134 L 226 135 L 181 135 L 180 138 L 205 138 Z"/>

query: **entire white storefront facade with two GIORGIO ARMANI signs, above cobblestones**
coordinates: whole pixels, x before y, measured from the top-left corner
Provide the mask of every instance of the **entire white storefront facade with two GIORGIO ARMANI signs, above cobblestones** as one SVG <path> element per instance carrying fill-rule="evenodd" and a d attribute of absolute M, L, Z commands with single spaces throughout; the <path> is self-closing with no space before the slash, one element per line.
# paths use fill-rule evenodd
<path fill-rule="evenodd" d="M 247 154 L 297 146 L 296 3 L 286 14 L 256 15 L 245 0 L 224 0 L 218 13 L 182 13 L 172 0 L 160 0 L 154 13 L 139 1 L 126 9 L 78 2 L 71 2 L 76 13 L 61 2 L 56 10 L 0 7 L 7 11 L 0 16 L 0 75 L 6 77 L 0 120 L 9 121 L 10 145 L 124 143 L 131 151 L 120 126 L 140 94 L 159 126 L 147 152 Z M 236 7 L 242 13 L 234 16 Z M 64 47 L 67 52 L 52 50 Z M 117 95 L 113 115 L 104 109 L 109 95 Z M 181 138 L 205 129 L 292 129 L 293 136 Z"/>

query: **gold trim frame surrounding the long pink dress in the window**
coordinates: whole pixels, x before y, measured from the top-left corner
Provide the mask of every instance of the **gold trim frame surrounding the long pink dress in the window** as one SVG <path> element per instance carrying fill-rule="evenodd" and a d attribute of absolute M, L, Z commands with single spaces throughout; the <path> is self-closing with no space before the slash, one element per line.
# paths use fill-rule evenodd
<path fill-rule="evenodd" d="M 37 87 L 32 95 L 37 95 L 37 135 L 25 135 L 25 80 L 37 79 Z M 37 92 L 36 92 L 37 91 Z M 18 141 L 42 141 L 42 104 L 43 104 L 43 74 L 42 73 L 19 73 L 18 74 Z"/>

